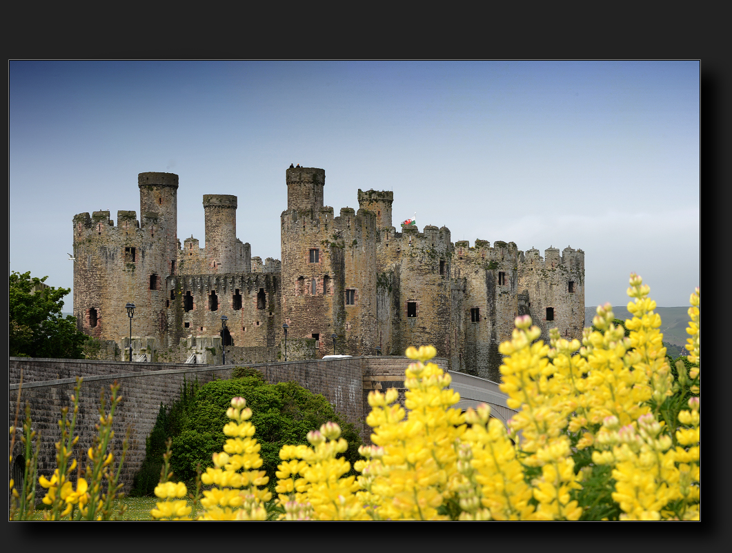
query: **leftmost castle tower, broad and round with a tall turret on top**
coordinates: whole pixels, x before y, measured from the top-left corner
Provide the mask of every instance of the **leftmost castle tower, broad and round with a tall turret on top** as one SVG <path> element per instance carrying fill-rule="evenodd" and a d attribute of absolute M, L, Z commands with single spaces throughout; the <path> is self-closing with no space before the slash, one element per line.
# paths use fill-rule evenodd
<path fill-rule="evenodd" d="M 133 336 L 167 346 L 171 290 L 178 255 L 177 189 L 173 173 L 140 173 L 141 217 L 109 211 L 74 217 L 74 315 L 81 331 L 121 343 L 129 334 L 124 305 L 135 304 Z"/>

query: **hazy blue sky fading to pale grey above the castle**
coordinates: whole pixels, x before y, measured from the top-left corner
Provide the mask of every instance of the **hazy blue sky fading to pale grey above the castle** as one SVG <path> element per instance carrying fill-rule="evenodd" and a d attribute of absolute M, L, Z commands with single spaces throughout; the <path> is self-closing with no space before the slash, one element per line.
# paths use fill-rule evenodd
<path fill-rule="evenodd" d="M 10 61 L 9 82 L 10 270 L 52 286 L 72 217 L 139 219 L 146 171 L 179 175 L 181 242 L 234 194 L 237 237 L 279 259 L 290 163 L 326 171 L 336 214 L 393 190 L 397 228 L 583 249 L 588 306 L 626 304 L 631 271 L 660 306 L 699 285 L 698 61 Z"/>

